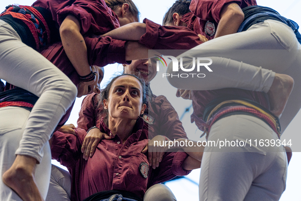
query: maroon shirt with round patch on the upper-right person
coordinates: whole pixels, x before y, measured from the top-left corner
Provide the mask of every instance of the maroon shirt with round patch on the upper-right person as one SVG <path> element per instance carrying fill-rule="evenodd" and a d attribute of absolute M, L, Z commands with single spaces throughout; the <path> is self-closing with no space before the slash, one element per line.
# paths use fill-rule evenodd
<path fill-rule="evenodd" d="M 256 6 L 256 0 L 191 0 L 189 9 L 199 18 L 201 35 L 213 39 L 221 20 L 223 7 L 228 3 L 236 3 L 240 8 Z"/>

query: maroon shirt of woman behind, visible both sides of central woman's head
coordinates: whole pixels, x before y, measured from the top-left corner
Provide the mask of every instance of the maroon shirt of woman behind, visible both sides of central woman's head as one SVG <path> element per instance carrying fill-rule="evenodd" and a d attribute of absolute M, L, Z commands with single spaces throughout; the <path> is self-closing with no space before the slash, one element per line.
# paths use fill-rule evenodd
<path fill-rule="evenodd" d="M 153 95 L 152 102 L 152 104 L 147 104 L 147 109 L 142 115 L 142 118 L 149 123 L 149 139 L 156 135 L 163 135 L 171 140 L 187 138 L 178 113 L 167 98 L 163 95 Z M 106 114 L 103 113 L 102 104 L 98 106 L 98 103 L 99 95 L 96 93 L 89 94 L 84 98 L 77 120 L 78 128 L 88 131 L 94 125 L 100 127 L 100 120 Z"/>

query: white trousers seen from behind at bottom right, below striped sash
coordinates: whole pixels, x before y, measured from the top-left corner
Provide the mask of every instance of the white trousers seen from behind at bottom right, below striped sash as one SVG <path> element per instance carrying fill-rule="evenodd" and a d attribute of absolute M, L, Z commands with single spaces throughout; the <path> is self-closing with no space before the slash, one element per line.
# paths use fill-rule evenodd
<path fill-rule="evenodd" d="M 264 141 L 264 146 L 259 144 Z M 242 141 L 224 146 L 207 146 L 201 164 L 200 200 L 275 201 L 285 190 L 287 159 L 277 134 L 262 120 L 249 115 L 232 115 L 216 121 L 209 141 Z M 255 144 L 257 140 L 257 144 Z M 256 146 L 257 145 L 257 146 Z"/>

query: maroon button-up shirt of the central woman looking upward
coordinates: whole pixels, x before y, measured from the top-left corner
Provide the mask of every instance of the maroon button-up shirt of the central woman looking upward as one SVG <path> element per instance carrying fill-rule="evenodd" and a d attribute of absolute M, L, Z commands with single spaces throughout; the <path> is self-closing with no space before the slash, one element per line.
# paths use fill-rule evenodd
<path fill-rule="evenodd" d="M 111 132 L 102 121 L 100 130 Z M 52 158 L 66 166 L 71 174 L 71 200 L 83 200 L 105 190 L 126 190 L 143 197 L 152 185 L 190 172 L 182 168 L 188 156 L 184 152 L 166 153 L 158 168 L 149 168 L 146 155 L 141 153 L 148 143 L 147 124 L 141 118 L 124 143 L 118 135 L 113 140 L 103 139 L 87 161 L 80 152 L 86 131 L 78 128 L 75 133 L 56 132 L 51 145 Z M 143 163 L 149 168 L 147 178 L 140 172 Z"/>

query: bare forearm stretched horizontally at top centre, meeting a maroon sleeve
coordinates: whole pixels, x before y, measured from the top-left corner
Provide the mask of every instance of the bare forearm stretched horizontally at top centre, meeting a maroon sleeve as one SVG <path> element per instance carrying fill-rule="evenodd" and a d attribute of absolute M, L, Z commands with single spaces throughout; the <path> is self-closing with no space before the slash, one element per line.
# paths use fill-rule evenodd
<path fill-rule="evenodd" d="M 133 40 L 139 41 L 140 37 L 146 33 L 146 24 L 140 22 L 133 22 L 126 24 L 118 29 L 114 29 L 111 32 L 108 32 L 104 36 L 110 36 L 114 39 L 119 40 Z"/>

